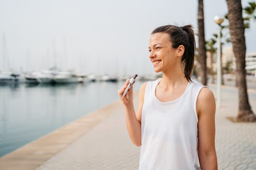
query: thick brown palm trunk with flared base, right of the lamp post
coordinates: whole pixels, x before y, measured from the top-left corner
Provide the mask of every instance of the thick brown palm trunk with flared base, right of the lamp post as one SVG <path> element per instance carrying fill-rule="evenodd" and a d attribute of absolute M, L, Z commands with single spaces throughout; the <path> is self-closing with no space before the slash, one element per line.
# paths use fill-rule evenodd
<path fill-rule="evenodd" d="M 241 0 L 227 0 L 228 20 L 233 52 L 236 58 L 236 77 L 238 83 L 239 107 L 236 121 L 253 122 L 256 116 L 248 100 L 245 70 L 245 25 L 242 16 Z"/>

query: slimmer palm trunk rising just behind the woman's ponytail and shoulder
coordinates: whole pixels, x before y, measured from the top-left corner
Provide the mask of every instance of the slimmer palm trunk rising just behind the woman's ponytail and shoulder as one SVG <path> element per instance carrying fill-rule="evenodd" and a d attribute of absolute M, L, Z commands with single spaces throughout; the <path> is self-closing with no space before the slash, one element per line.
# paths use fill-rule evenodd
<path fill-rule="evenodd" d="M 201 68 L 201 83 L 207 85 L 207 70 L 206 70 L 206 47 L 204 39 L 204 16 L 203 16 L 203 0 L 198 0 L 198 42 L 199 56 L 198 61 Z"/>

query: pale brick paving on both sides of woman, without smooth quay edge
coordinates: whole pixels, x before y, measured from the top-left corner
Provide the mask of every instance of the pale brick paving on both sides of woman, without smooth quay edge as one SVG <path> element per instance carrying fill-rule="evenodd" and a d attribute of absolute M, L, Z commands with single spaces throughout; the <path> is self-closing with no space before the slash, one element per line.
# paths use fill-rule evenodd
<path fill-rule="evenodd" d="M 215 87 L 210 88 L 215 93 Z M 256 91 L 249 91 L 250 103 L 256 112 Z M 222 87 L 221 107 L 216 110 L 218 169 L 256 169 L 256 124 L 226 119 L 236 116 L 237 106 L 237 90 Z M 101 110 L 101 114 L 109 116 L 36 169 L 138 169 L 140 147 L 133 145 L 129 138 L 122 104 L 115 102 L 115 109 L 109 111 L 111 114 Z"/>

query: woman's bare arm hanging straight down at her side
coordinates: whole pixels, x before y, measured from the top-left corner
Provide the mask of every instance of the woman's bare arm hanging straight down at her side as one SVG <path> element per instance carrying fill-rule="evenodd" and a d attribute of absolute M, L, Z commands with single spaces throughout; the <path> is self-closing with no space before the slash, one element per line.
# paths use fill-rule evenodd
<path fill-rule="evenodd" d="M 202 88 L 197 99 L 198 156 L 201 169 L 218 169 L 215 151 L 215 99 L 213 92 Z"/>

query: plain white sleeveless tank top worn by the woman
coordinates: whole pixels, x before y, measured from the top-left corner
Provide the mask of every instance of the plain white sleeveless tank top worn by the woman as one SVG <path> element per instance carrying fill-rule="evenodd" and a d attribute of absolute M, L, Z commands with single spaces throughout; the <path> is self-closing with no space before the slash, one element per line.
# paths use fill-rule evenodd
<path fill-rule="evenodd" d="M 196 101 L 206 86 L 192 80 L 180 98 L 161 102 L 155 96 L 160 80 L 148 82 L 145 90 L 139 170 L 200 169 Z"/>

